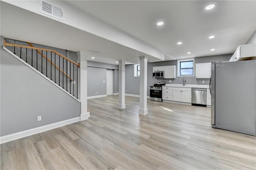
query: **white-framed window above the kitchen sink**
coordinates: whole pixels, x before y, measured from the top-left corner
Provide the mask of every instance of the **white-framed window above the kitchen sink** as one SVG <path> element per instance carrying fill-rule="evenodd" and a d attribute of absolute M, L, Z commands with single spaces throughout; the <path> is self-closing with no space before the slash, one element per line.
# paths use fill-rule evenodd
<path fill-rule="evenodd" d="M 178 77 L 194 76 L 194 58 L 186 60 L 177 60 Z"/>

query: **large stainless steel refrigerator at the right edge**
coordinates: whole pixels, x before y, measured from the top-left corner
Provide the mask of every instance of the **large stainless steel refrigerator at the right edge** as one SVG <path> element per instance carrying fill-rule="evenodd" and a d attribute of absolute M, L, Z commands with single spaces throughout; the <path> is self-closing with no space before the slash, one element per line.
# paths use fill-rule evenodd
<path fill-rule="evenodd" d="M 256 60 L 212 62 L 212 127 L 256 136 Z"/>

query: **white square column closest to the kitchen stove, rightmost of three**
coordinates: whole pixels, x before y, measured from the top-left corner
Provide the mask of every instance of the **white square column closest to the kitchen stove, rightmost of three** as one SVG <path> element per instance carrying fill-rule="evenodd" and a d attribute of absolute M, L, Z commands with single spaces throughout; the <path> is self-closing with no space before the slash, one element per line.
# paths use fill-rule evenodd
<path fill-rule="evenodd" d="M 148 58 L 140 56 L 140 109 L 139 114 L 148 114 L 147 108 Z"/>

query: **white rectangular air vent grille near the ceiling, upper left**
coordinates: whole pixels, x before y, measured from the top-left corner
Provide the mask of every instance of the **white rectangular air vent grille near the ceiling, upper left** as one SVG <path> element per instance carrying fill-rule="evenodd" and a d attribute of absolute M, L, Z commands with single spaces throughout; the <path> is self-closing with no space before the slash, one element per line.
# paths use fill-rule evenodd
<path fill-rule="evenodd" d="M 40 12 L 63 20 L 63 9 L 58 6 L 54 6 L 50 2 L 40 1 Z"/>

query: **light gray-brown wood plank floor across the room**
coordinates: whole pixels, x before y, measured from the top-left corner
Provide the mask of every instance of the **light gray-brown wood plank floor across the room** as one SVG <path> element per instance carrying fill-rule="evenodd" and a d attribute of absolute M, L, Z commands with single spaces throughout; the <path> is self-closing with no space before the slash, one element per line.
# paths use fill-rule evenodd
<path fill-rule="evenodd" d="M 256 169 L 256 137 L 211 128 L 210 108 L 88 100 L 89 120 L 1 144 L 1 170 Z"/>

